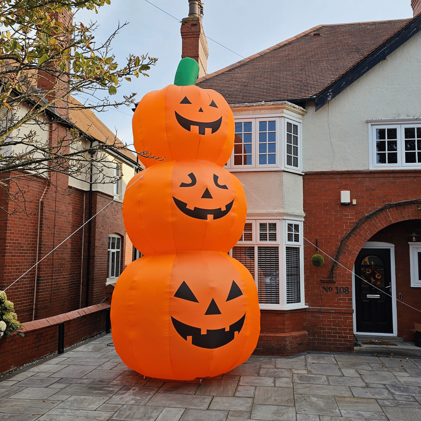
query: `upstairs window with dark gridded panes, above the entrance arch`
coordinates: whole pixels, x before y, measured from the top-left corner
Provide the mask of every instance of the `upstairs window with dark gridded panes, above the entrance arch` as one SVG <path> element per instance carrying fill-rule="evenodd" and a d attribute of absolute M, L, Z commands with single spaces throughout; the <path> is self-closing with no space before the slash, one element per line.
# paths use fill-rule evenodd
<path fill-rule="evenodd" d="M 371 124 L 370 168 L 421 168 L 421 124 Z"/>

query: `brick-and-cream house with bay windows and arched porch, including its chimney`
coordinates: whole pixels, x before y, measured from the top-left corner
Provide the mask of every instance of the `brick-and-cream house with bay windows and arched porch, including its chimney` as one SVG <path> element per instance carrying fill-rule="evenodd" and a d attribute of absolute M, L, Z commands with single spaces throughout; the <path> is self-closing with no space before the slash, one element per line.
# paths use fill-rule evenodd
<path fill-rule="evenodd" d="M 201 64 L 192 3 L 183 55 Z M 244 186 L 248 219 L 231 254 L 258 287 L 257 354 L 353 352 L 354 333 L 413 341 L 421 1 L 411 3 L 413 18 L 318 25 L 197 80 L 235 117 L 225 168 Z"/>

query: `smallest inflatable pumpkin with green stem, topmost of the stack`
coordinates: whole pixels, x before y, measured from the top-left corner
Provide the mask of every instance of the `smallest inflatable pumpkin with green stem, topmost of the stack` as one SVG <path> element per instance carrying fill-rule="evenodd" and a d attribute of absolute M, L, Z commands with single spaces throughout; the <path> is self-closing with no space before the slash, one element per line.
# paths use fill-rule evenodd
<path fill-rule="evenodd" d="M 174 85 L 147 93 L 133 115 L 137 152 L 166 161 L 199 159 L 221 167 L 234 147 L 234 115 L 224 97 L 195 85 L 199 65 L 181 59 Z M 160 160 L 139 156 L 150 167 Z"/>

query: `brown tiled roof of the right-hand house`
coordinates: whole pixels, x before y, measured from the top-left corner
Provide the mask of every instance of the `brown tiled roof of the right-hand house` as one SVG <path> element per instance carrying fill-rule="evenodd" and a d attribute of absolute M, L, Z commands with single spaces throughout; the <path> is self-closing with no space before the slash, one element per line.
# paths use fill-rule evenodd
<path fill-rule="evenodd" d="M 412 20 L 318 25 L 206 75 L 197 85 L 218 91 L 230 105 L 311 98 Z"/>

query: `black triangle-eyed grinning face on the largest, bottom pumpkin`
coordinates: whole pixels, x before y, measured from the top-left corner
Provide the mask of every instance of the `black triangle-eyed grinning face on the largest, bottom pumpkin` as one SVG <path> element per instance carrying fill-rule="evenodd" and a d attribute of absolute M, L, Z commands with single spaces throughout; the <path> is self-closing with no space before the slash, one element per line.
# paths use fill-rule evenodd
<path fill-rule="evenodd" d="M 235 300 L 236 298 L 239 298 L 243 295 L 244 294 L 242 290 L 237 285 L 237 283 L 233 280 L 231 284 L 231 288 L 229 289 L 228 296 L 226 297 L 225 303 L 228 303 L 228 301 Z M 223 325 L 223 327 L 219 329 L 218 328 L 216 329 L 200 328 L 197 326 L 189 325 L 187 323 L 183 323 L 177 320 L 175 317 L 171 316 L 171 321 L 173 322 L 173 326 L 176 329 L 177 333 L 182 338 L 184 338 L 185 341 L 187 341 L 188 337 L 191 337 L 192 345 L 199 346 L 200 348 L 207 348 L 207 349 L 219 348 L 221 346 L 229 344 L 232 340 L 234 340 L 235 334 L 241 332 L 241 329 L 244 325 L 245 313 L 238 320 L 235 320 L 235 321 L 230 320 L 229 328 L 228 330 L 226 330 L 224 323 L 221 323 L 221 319 L 226 320 L 227 318 L 225 315 L 222 314 L 221 310 L 219 309 L 219 307 L 221 306 L 221 303 L 218 306 L 218 304 L 215 301 L 215 298 L 212 297 L 209 305 L 207 305 L 207 302 L 209 301 L 209 299 L 205 301 L 205 307 L 204 307 L 203 303 L 200 303 L 197 300 L 195 294 L 189 288 L 189 285 L 187 285 L 185 281 L 183 281 L 183 283 L 179 286 L 176 293 L 174 294 L 174 297 L 179 298 L 180 300 L 197 303 L 197 305 L 194 305 L 194 304 L 188 305 L 188 306 L 186 305 L 185 307 L 189 307 L 189 308 L 186 309 L 187 310 L 186 312 L 183 312 L 183 314 L 197 312 L 197 314 L 194 315 L 193 320 L 197 320 L 198 319 L 197 316 L 199 316 L 200 318 L 200 316 L 202 316 L 202 314 L 200 314 L 201 310 L 203 312 L 203 310 L 206 308 L 206 311 L 203 313 L 203 315 L 213 316 L 214 320 L 208 320 L 210 319 L 210 317 L 205 317 L 205 325 L 209 325 L 209 323 L 206 323 L 206 322 L 213 322 L 212 325 L 215 325 L 215 322 L 216 323 L 219 322 L 221 325 Z M 182 304 L 179 303 L 179 305 L 182 305 Z M 232 305 L 232 307 L 238 306 L 239 305 L 238 299 L 236 301 L 233 301 L 232 303 L 223 304 L 223 305 L 226 307 L 230 305 Z M 242 306 L 240 305 L 240 307 Z M 235 309 L 234 310 L 231 309 L 231 311 L 229 310 L 230 309 L 227 309 L 227 312 L 230 312 L 231 314 L 236 312 Z M 215 327 L 215 326 L 212 326 L 212 327 Z M 204 329 L 206 330 L 206 333 L 202 333 Z"/>

